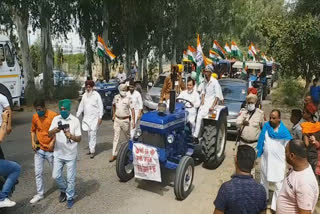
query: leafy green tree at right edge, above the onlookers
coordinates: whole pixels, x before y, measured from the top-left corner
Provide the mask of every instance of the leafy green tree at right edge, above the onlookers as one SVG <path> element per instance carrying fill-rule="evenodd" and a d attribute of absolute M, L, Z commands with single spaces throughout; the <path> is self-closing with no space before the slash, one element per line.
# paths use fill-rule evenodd
<path fill-rule="evenodd" d="M 320 76 L 320 23 L 311 15 L 294 14 L 267 19 L 261 26 L 268 51 L 281 63 L 284 74 L 301 76 L 308 89 L 313 75 Z"/>

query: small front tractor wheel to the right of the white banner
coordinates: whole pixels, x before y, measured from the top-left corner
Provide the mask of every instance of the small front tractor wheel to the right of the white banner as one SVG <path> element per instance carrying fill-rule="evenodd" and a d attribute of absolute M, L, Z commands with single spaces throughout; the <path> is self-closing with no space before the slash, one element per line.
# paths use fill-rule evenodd
<path fill-rule="evenodd" d="M 192 190 L 194 161 L 189 156 L 183 156 L 176 170 L 174 179 L 174 194 L 178 200 L 184 200 Z"/>

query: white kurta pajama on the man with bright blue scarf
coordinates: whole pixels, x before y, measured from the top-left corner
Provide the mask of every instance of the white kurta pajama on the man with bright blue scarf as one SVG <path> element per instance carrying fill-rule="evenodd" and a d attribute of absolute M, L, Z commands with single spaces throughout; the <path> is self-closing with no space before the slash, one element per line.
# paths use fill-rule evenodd
<path fill-rule="evenodd" d="M 271 209 L 276 211 L 277 198 L 282 188 L 286 170 L 285 146 L 289 140 L 273 139 L 265 134 L 263 153 L 261 156 L 261 184 L 264 186 L 269 199 L 269 182 L 275 184 Z"/>

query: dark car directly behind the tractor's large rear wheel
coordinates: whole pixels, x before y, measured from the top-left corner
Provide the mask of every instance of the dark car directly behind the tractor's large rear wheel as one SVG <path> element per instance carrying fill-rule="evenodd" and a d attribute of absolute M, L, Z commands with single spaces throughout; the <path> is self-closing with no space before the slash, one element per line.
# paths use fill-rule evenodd
<path fill-rule="evenodd" d="M 245 107 L 248 93 L 248 82 L 240 79 L 220 79 L 224 105 L 228 107 L 228 133 L 237 133 L 236 119 L 242 108 Z"/>

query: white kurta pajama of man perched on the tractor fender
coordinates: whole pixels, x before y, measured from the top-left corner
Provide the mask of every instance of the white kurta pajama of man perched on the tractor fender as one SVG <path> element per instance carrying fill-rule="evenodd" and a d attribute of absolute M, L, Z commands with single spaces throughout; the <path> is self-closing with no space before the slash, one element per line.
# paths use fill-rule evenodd
<path fill-rule="evenodd" d="M 204 95 L 204 104 L 199 108 L 196 126 L 193 134 L 193 136 L 196 138 L 199 137 L 202 118 L 208 116 L 209 109 L 212 107 L 215 98 L 218 97 L 219 100 L 223 100 L 222 90 L 218 80 L 210 77 L 209 82 L 205 81 L 201 92 L 201 96 L 202 95 Z"/>

